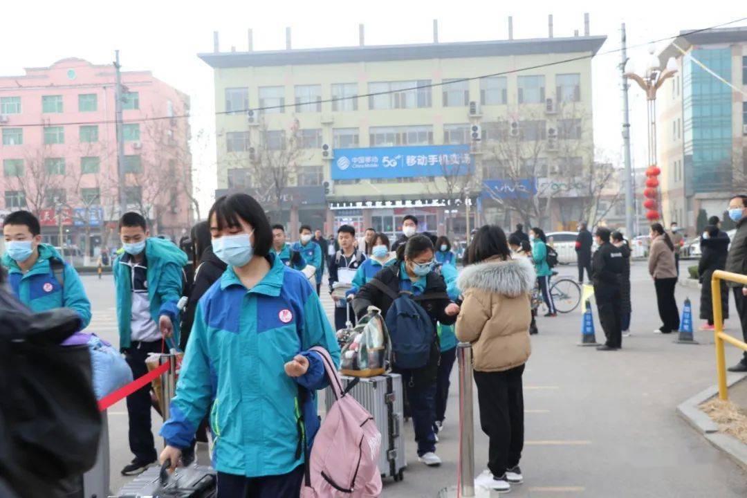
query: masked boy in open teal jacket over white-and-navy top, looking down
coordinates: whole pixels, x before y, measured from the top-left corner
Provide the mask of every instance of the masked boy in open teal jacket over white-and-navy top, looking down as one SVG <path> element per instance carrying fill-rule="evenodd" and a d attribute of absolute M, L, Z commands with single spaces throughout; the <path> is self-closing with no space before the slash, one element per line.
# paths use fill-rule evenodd
<path fill-rule="evenodd" d="M 120 349 L 137 379 L 148 369 L 149 353 L 161 352 L 164 340 L 179 344 L 179 308 L 182 267 L 187 255 L 170 240 L 149 237 L 146 220 L 137 213 L 120 219 L 123 253 L 112 265 L 117 290 L 117 323 Z M 127 396 L 130 450 L 134 459 L 123 476 L 142 473 L 156 460 L 151 431 L 150 387 Z M 203 411 L 201 417 L 205 414 Z"/>

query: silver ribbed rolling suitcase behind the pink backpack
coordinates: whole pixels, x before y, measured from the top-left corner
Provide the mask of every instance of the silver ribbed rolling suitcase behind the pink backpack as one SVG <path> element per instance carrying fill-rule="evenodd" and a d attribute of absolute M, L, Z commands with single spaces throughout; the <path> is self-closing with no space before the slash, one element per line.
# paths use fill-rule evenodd
<path fill-rule="evenodd" d="M 382 476 L 394 477 L 394 481 L 403 479 L 405 461 L 405 438 L 403 435 L 403 389 L 402 376 L 390 373 L 375 377 L 341 376 L 344 387 L 360 379 L 353 386 L 350 394 L 363 408 L 369 411 L 381 432 L 381 452 L 379 452 L 379 471 Z M 327 387 L 324 393 L 326 410 L 332 407 L 335 395 Z"/>

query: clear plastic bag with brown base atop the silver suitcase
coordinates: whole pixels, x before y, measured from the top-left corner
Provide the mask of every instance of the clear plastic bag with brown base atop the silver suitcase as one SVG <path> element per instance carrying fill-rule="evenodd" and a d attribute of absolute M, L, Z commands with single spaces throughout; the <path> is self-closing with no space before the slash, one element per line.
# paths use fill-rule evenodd
<path fill-rule="evenodd" d="M 378 308 L 369 308 L 352 330 L 340 331 L 340 371 L 346 376 L 380 376 L 389 368 L 391 346 L 384 319 Z"/>

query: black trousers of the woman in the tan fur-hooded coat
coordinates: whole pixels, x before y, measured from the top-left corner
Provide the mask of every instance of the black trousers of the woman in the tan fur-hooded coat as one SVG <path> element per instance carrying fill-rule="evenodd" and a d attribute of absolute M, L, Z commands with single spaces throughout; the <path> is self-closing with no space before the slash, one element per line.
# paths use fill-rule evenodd
<path fill-rule="evenodd" d="M 490 438 L 488 468 L 494 476 L 518 465 L 524 449 L 524 365 L 504 372 L 474 371 L 480 427 Z"/>

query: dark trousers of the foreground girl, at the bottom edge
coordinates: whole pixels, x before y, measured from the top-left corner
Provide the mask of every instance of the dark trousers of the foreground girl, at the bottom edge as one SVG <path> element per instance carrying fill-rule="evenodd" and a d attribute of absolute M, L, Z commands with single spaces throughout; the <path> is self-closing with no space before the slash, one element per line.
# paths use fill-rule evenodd
<path fill-rule="evenodd" d="M 297 498 L 303 465 L 280 476 L 246 477 L 218 473 L 218 498 Z"/>

